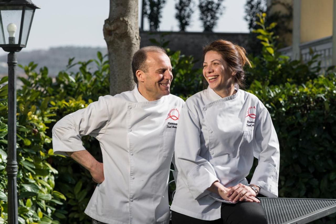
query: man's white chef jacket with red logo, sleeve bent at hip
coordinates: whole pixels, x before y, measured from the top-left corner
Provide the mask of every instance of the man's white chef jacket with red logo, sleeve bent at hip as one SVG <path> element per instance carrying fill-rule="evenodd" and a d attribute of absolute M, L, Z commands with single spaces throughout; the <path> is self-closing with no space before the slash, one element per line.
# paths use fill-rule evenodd
<path fill-rule="evenodd" d="M 148 101 L 135 87 L 99 97 L 55 124 L 55 154 L 85 150 L 85 135 L 100 143 L 105 180 L 94 190 L 88 216 L 104 223 L 169 223 L 167 183 L 183 103 L 173 95 Z"/>

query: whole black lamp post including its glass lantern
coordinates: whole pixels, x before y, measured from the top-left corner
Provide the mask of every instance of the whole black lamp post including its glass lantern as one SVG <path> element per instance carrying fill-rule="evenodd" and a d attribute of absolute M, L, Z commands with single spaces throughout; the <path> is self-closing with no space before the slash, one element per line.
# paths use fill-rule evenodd
<path fill-rule="evenodd" d="M 8 223 L 17 224 L 16 54 L 26 47 L 36 5 L 31 0 L 0 0 L 0 47 L 8 54 Z M 6 30 L 5 30 L 6 29 Z"/>

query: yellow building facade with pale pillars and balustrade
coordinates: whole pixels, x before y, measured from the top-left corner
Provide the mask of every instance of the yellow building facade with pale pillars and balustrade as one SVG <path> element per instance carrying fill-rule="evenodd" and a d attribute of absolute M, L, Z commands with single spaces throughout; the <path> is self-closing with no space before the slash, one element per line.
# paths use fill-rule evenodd
<path fill-rule="evenodd" d="M 336 65 L 336 0 L 282 1 L 293 6 L 293 31 L 286 38 L 289 46 L 280 51 L 305 63 L 311 59 L 312 49 L 314 54 L 320 54 L 318 59 L 323 69 Z M 272 0 L 268 0 L 268 4 L 271 3 Z"/>

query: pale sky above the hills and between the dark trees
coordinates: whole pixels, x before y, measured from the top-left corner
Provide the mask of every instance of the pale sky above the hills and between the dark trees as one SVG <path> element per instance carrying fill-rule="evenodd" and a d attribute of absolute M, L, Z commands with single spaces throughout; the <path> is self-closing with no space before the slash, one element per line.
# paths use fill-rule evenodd
<path fill-rule="evenodd" d="M 48 49 L 57 46 L 106 47 L 102 28 L 109 17 L 109 0 L 32 0 L 41 9 L 35 11 L 34 20 L 25 51 Z M 163 12 L 160 31 L 179 31 L 175 19 L 175 2 L 167 0 Z M 139 26 L 141 0 L 139 0 Z M 248 25 L 244 21 L 246 0 L 224 0 L 226 7 L 214 32 L 247 33 Z M 195 12 L 192 24 L 186 29 L 190 32 L 202 32 L 199 21 L 198 0 L 195 0 Z M 144 30 L 148 30 L 148 20 L 144 20 Z M 0 50 L 0 54 L 6 52 Z"/>

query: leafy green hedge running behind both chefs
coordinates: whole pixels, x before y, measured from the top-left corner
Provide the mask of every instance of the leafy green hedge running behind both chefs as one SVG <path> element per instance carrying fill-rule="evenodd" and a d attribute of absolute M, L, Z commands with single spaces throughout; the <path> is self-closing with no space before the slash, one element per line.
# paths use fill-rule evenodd
<path fill-rule="evenodd" d="M 261 16 L 258 39 L 262 54 L 247 68 L 247 90 L 269 110 L 280 150 L 279 196 L 336 198 L 336 75 L 322 74 L 316 56 L 308 64 L 289 61 L 276 50 L 272 27 Z M 152 40 L 155 42 L 154 40 Z M 158 42 L 156 42 L 158 44 Z M 159 43 L 160 44 L 160 43 Z M 167 47 L 168 42 L 162 42 Z M 173 66 L 173 94 L 186 99 L 203 89 L 201 69 L 193 69 L 192 56 L 167 49 Z M 61 117 L 109 94 L 109 65 L 100 52 L 97 59 L 74 63 L 79 71 L 59 72 L 22 67 L 27 77 L 17 91 L 17 189 L 20 223 L 91 223 L 84 214 L 95 188 L 88 171 L 71 158 L 52 154 L 51 129 Z M 95 67 L 95 69 L 92 69 Z M 7 220 L 7 77 L 0 81 L 0 223 Z M 98 142 L 83 138 L 85 148 L 101 161 Z M 255 161 L 256 162 L 256 161 Z M 255 163 L 256 164 L 256 163 Z M 171 186 L 173 189 L 174 186 Z M 332 221 L 329 221 L 332 223 Z"/>

